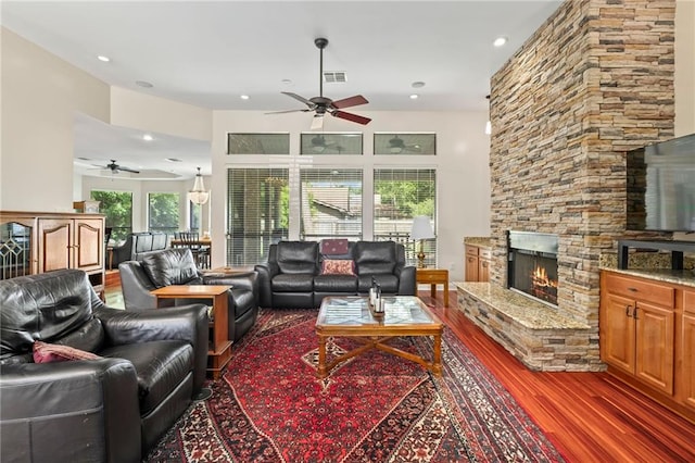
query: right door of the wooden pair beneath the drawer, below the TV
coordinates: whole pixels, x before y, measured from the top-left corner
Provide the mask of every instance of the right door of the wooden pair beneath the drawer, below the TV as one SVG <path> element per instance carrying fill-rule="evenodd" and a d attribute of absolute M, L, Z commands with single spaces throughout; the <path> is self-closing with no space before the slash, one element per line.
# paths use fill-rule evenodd
<path fill-rule="evenodd" d="M 673 395 L 673 310 L 637 301 L 635 375 L 644 383 Z"/>

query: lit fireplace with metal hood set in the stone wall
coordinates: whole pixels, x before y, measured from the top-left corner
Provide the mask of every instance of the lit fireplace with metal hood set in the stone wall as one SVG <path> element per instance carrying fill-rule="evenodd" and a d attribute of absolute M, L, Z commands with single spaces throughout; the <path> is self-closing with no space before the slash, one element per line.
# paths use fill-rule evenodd
<path fill-rule="evenodd" d="M 557 306 L 557 235 L 508 234 L 507 287 Z"/>

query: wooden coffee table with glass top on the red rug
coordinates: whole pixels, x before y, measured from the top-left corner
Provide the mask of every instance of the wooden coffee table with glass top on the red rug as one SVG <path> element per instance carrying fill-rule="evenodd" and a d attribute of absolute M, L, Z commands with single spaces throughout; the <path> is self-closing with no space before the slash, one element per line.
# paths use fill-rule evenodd
<path fill-rule="evenodd" d="M 369 311 L 367 298 L 324 298 L 316 321 L 318 335 L 318 372 L 325 378 L 339 363 L 370 349 L 379 349 L 403 359 L 419 363 L 437 376 L 442 374 L 442 322 L 415 296 L 384 297 L 384 316 L 376 318 Z M 387 345 L 392 338 L 402 336 L 432 336 L 434 338 L 432 360 L 405 352 Z M 350 337 L 363 346 L 326 362 L 326 341 L 329 337 Z"/>

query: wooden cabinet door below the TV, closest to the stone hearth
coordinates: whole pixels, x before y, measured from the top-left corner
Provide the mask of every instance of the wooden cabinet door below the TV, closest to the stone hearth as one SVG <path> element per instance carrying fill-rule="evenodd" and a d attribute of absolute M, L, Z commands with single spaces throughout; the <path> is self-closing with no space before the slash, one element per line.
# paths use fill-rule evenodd
<path fill-rule="evenodd" d="M 606 293 L 601 306 L 601 358 L 604 362 L 634 374 L 634 301 Z"/>

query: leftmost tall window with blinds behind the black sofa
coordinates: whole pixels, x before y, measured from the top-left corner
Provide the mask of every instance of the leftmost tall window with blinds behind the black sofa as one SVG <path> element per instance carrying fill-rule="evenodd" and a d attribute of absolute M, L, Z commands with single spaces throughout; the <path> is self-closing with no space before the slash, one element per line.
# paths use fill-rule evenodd
<path fill-rule="evenodd" d="M 289 170 L 230 168 L 227 172 L 227 265 L 253 265 L 270 243 L 287 239 Z"/>

